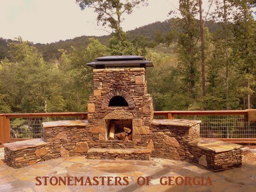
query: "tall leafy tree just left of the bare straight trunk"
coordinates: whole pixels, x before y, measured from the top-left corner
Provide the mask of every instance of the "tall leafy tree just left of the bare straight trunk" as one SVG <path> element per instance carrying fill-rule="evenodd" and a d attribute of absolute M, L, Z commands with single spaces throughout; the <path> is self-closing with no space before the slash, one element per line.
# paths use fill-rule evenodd
<path fill-rule="evenodd" d="M 172 14 L 173 12 L 170 12 Z M 178 53 L 181 65 L 186 71 L 184 80 L 190 84 L 190 94 L 196 98 L 196 62 L 198 61 L 198 50 L 196 47 L 199 34 L 199 23 L 196 19 L 198 14 L 197 1 L 180 0 L 179 13 L 182 19 L 172 20 L 172 28 L 178 34 Z M 187 65 L 189 63 L 189 66 Z"/>

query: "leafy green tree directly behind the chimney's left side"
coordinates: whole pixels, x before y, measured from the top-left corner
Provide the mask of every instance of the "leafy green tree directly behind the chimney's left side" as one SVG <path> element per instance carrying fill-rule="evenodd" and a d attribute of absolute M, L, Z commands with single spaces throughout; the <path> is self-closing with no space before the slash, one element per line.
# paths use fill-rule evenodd
<path fill-rule="evenodd" d="M 70 52 L 62 52 L 58 66 L 61 70 L 61 94 L 65 99 L 66 111 L 86 111 L 87 100 L 92 94 L 92 68 L 86 63 L 97 57 L 110 54 L 110 49 L 97 39 L 90 39 L 88 46 L 73 47 Z"/>

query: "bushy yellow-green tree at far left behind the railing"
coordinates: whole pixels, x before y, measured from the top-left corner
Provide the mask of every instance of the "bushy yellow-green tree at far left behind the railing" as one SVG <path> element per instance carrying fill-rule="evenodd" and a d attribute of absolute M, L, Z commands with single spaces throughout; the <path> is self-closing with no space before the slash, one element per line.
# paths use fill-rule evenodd
<path fill-rule="evenodd" d="M 7 110 L 18 113 L 62 111 L 64 100 L 59 94 L 58 68 L 45 62 L 35 47 L 21 38 L 17 43 L 10 43 L 9 49 L 12 59 L 3 60 L 0 67 L 0 95 L 10 97 Z"/>

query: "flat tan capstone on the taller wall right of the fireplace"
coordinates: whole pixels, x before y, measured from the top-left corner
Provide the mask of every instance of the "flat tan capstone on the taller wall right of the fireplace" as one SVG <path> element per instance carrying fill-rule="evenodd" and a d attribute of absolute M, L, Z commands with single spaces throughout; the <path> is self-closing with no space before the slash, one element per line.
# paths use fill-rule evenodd
<path fill-rule="evenodd" d="M 187 119 L 153 119 L 152 125 L 169 125 L 169 126 L 180 126 L 180 127 L 191 127 L 201 121 L 187 120 Z"/>

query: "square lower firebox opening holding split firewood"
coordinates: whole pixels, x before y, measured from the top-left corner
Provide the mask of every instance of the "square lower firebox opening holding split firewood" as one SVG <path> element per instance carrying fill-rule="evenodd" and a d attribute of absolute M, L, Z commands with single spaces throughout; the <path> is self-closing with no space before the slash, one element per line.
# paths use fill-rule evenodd
<path fill-rule="evenodd" d="M 107 140 L 132 140 L 132 119 L 107 119 Z"/>

